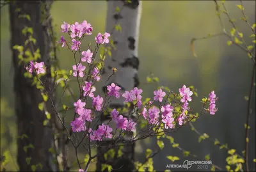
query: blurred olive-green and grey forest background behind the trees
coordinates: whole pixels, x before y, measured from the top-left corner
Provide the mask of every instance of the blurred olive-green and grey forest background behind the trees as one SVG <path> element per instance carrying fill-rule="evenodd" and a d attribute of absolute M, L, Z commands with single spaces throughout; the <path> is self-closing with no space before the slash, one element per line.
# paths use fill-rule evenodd
<path fill-rule="evenodd" d="M 236 4 L 239 1 L 226 1 L 228 12 L 232 19 L 237 19 L 237 26 L 244 33 L 246 42 L 251 42 L 252 30 L 239 20 L 243 17 Z M 106 1 L 55 1 L 51 15 L 56 25 L 57 37 L 60 38 L 60 26 L 63 21 L 70 24 L 87 20 L 93 26 L 93 36 L 104 33 L 106 25 Z M 255 1 L 243 1 L 248 21 L 255 23 Z M 143 1 L 143 12 L 140 24 L 139 44 L 139 77 L 143 97 L 153 97 L 157 84 L 144 84 L 147 75 L 151 72 L 159 77 L 159 84 L 168 86 L 170 90 L 178 92 L 183 84 L 193 85 L 198 89 L 198 98 L 194 97 L 191 107 L 200 112 L 200 100 L 211 90 L 220 98 L 217 103 L 218 112 L 214 115 L 204 115 L 193 123 L 200 132 L 207 133 L 212 138 L 218 138 L 220 143 L 227 143 L 242 155 L 244 150 L 244 123 L 246 122 L 246 100 L 250 88 L 252 60 L 245 52 L 235 45 L 228 46 L 224 36 L 195 42 L 197 58 L 190 51 L 191 38 L 199 38 L 211 33 L 220 33 L 220 21 L 216 15 L 216 6 L 213 1 Z M 227 31 L 232 28 L 226 16 L 222 15 Z M 88 36 L 88 42 L 93 41 Z M 86 45 L 84 45 L 86 46 Z M 4 150 L 12 150 L 15 160 L 17 127 L 15 109 L 13 109 L 13 66 L 12 49 L 10 47 L 10 21 L 8 6 L 1 9 L 1 154 Z M 74 59 L 71 52 L 65 47 L 58 51 L 58 58 L 62 68 L 70 70 Z M 76 87 L 77 88 L 77 87 Z M 77 90 L 76 90 L 77 91 Z M 60 94 L 59 94 L 60 96 Z M 255 171 L 255 87 L 252 98 L 252 115 L 250 118 L 249 165 Z M 66 101 L 72 106 L 72 102 Z M 70 117 L 71 117 L 70 112 Z M 68 117 L 69 118 L 69 117 Z M 69 118 L 71 119 L 71 118 Z M 67 125 L 70 120 L 67 120 Z M 225 170 L 227 150 L 220 150 L 211 141 L 198 143 L 198 135 L 189 125 L 170 134 L 180 147 L 195 153 L 204 159 L 210 154 L 214 164 Z M 166 155 L 180 157 L 176 164 L 183 164 L 184 160 L 195 160 L 183 157 L 182 152 L 172 148 L 168 141 L 164 142 L 163 150 L 154 157 L 154 168 L 164 171 L 166 164 L 171 161 Z M 254 146 L 253 146 L 254 145 Z M 136 157 L 144 161 L 145 150 L 157 146 L 156 139 L 145 139 L 136 145 Z M 72 152 L 72 150 L 70 150 Z M 81 157 L 84 150 L 79 153 Z M 72 159 L 72 155 L 70 155 Z M 17 164 L 17 163 L 15 163 Z M 95 162 L 93 162 L 95 164 Z M 95 165 L 90 166 L 93 170 Z M 10 170 L 15 170 L 12 163 Z M 191 168 L 192 169 L 192 168 Z M 174 170 L 174 169 L 170 169 Z M 175 171 L 184 169 L 175 169 Z M 195 170 L 195 169 L 194 169 Z M 210 169 L 204 169 L 204 171 Z"/>

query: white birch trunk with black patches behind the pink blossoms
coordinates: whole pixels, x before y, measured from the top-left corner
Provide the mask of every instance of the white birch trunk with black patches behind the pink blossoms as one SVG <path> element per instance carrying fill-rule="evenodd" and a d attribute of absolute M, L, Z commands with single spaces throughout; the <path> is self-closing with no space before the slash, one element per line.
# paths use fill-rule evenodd
<path fill-rule="evenodd" d="M 116 12 L 116 7 L 120 8 L 120 13 Z M 102 75 L 102 90 L 106 90 L 106 79 L 113 74 L 113 67 L 118 71 L 109 79 L 107 84 L 114 82 L 122 88 L 120 93 L 124 93 L 125 90 L 130 91 L 134 87 L 138 86 L 138 37 L 140 31 L 140 19 L 141 19 L 141 1 L 132 1 L 127 3 L 125 1 L 108 1 L 108 15 L 106 19 L 106 32 L 111 33 L 111 39 L 115 43 L 116 49 L 112 49 L 112 56 L 106 56 L 104 61 L 104 74 Z M 115 24 L 120 24 L 122 31 L 116 31 L 113 29 Z M 124 98 L 111 98 L 109 104 L 111 108 L 124 107 Z M 131 118 L 131 115 L 122 114 L 127 118 Z M 133 118 L 135 114 L 132 114 Z M 108 120 L 109 121 L 109 120 Z M 101 122 L 106 122 L 106 118 L 102 118 Z M 114 125 L 111 125 L 113 127 Z M 115 127 L 113 127 L 115 131 Z M 131 138 L 131 134 L 127 138 Z M 125 138 L 124 138 L 125 139 Z M 108 141 L 100 143 L 100 145 L 108 145 Z M 98 152 L 102 150 L 99 146 Z M 123 148 L 124 155 L 118 160 L 109 160 L 115 171 L 131 171 L 134 169 L 134 144 L 127 145 Z M 101 171 L 101 164 L 105 164 L 104 156 L 98 158 L 97 171 Z"/>

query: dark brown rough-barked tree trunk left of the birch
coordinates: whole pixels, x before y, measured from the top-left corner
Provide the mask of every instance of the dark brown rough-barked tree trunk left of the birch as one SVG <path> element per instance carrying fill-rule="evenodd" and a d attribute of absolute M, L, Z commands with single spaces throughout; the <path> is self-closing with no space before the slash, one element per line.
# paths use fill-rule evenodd
<path fill-rule="evenodd" d="M 32 45 L 32 49 L 34 51 L 40 49 L 41 58 L 38 61 L 44 61 L 47 66 L 47 74 L 45 74 L 43 81 L 46 81 L 45 86 L 49 90 L 52 86 L 49 55 L 51 51 L 51 37 L 47 27 L 51 20 L 45 17 L 45 14 L 49 14 L 49 8 L 45 8 L 45 6 L 51 6 L 49 1 L 12 1 L 9 12 L 10 29 L 12 32 L 11 48 L 14 45 L 22 45 L 24 46 L 24 52 L 27 49 L 31 49 L 31 44 L 24 45 L 28 36 L 22 34 L 22 29 L 25 26 L 33 28 L 33 38 L 36 39 L 36 43 Z M 31 20 L 20 17 L 24 14 L 29 15 Z M 32 49 L 31 52 L 33 52 Z M 31 86 L 31 79 L 24 77 L 26 69 L 24 68 L 24 63 L 19 63 L 18 55 L 19 52 L 13 50 L 15 114 L 17 115 L 18 136 L 27 136 L 17 139 L 17 162 L 20 171 L 31 171 L 31 166 L 38 163 L 42 164 L 42 169 L 38 166 L 36 171 L 58 171 L 58 166 L 54 163 L 56 159 L 49 152 L 49 149 L 54 145 L 52 124 L 50 122 L 49 125 L 44 127 L 45 112 L 38 109 L 38 104 L 44 100 L 40 90 L 36 89 L 35 86 Z M 54 96 L 52 95 L 52 97 Z M 46 108 L 49 113 L 52 112 L 49 102 L 47 102 Z M 25 152 L 24 146 L 30 144 L 34 148 L 28 148 L 28 151 Z M 26 158 L 31 158 L 29 164 L 26 162 Z"/>

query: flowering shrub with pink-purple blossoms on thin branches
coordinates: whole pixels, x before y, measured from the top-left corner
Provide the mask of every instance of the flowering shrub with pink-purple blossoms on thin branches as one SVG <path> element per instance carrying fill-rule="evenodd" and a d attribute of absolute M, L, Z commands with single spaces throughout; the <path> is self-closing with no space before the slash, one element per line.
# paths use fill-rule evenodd
<path fill-rule="evenodd" d="M 135 87 L 132 90 L 122 90 L 116 83 L 106 85 L 107 93 L 104 98 L 100 97 L 100 95 L 95 95 L 94 92 L 96 88 L 94 84 L 102 79 L 100 76 L 102 74 L 105 56 L 104 54 L 100 54 L 99 63 L 97 63 L 95 59 L 97 58 L 96 55 L 99 47 L 109 43 L 110 34 L 106 32 L 103 35 L 98 33 L 97 36 L 95 36 L 95 49 L 92 50 L 89 46 L 89 49 L 82 51 L 81 42 L 84 36 L 92 35 L 92 31 L 93 27 L 86 20 L 81 23 L 75 22 L 75 24 L 63 22 L 61 32 L 67 33 L 68 36 L 61 36 L 60 42 L 58 42 L 61 44 L 62 48 L 67 46 L 74 54 L 75 65 L 70 66 L 70 68 L 72 67 L 70 75 L 76 77 L 80 88 L 80 97 L 74 102 L 76 118 L 70 122 L 70 127 L 72 133 L 83 132 L 83 138 L 78 139 L 74 134 L 71 137 L 72 133 L 67 133 L 68 136 L 70 136 L 69 139 L 72 141 L 73 146 L 76 148 L 84 139 L 86 140 L 86 150 L 90 155 L 90 159 L 84 169 L 81 168 L 79 160 L 77 159 L 80 168 L 79 171 L 87 171 L 91 160 L 98 156 L 97 154 L 92 155 L 90 151 L 91 147 L 89 145 L 91 145 L 93 141 L 115 139 L 115 142 L 113 142 L 114 145 L 111 146 L 124 143 L 125 141 L 122 140 L 122 137 L 124 137 L 127 132 L 134 131 L 136 127 L 139 127 L 137 124 L 140 123 L 140 132 L 134 133 L 134 136 L 130 139 L 130 142 L 134 142 L 150 136 L 173 132 L 186 125 L 189 121 L 199 117 L 199 115 L 190 114 L 191 108 L 189 107 L 189 102 L 192 101 L 193 90 L 190 90 L 190 88 L 185 85 L 179 89 L 179 94 L 173 93 L 173 91 L 166 88 L 159 88 L 154 91 L 154 100 L 151 101 L 148 100 L 148 98 L 143 99 L 141 96 L 143 90 L 140 88 Z M 70 42 L 66 40 L 67 37 L 70 38 Z M 76 59 L 76 53 L 80 54 L 78 60 Z M 40 76 L 38 74 L 45 74 L 44 62 L 34 63 L 30 61 L 26 69 L 31 74 L 35 72 L 39 81 Z M 113 75 L 115 75 L 115 72 L 118 72 L 118 69 L 113 69 Z M 66 79 L 66 81 L 68 81 L 68 79 Z M 44 83 L 41 83 L 44 86 Z M 48 95 L 48 93 L 46 94 Z M 51 100 L 51 96 L 48 95 L 48 97 L 52 104 L 54 104 Z M 123 98 L 127 107 L 130 107 L 129 111 L 127 111 L 127 109 L 125 111 L 125 108 L 109 110 L 108 104 L 110 101 L 109 98 L 111 97 Z M 92 101 L 92 107 L 88 106 L 89 100 Z M 218 98 L 214 91 L 209 93 L 208 98 L 203 98 L 202 114 L 207 112 L 212 115 L 215 114 L 217 111 L 216 100 L 218 100 Z M 208 103 L 209 107 L 205 107 Z M 56 109 L 55 111 L 56 115 L 59 115 Z M 99 116 L 104 115 L 106 112 L 111 114 L 108 123 L 102 123 L 98 126 L 96 124 L 93 125 L 93 121 L 99 121 Z M 128 116 L 124 116 L 124 114 L 127 113 L 128 116 L 132 113 L 139 115 L 136 119 L 129 119 Z M 59 119 L 61 120 L 61 118 Z M 116 129 L 110 127 L 109 123 L 111 121 L 115 123 Z M 63 127 L 67 129 L 65 125 Z M 73 139 L 76 141 L 73 141 Z M 109 146 L 109 149 L 111 146 Z"/>

